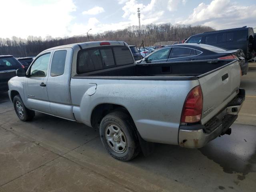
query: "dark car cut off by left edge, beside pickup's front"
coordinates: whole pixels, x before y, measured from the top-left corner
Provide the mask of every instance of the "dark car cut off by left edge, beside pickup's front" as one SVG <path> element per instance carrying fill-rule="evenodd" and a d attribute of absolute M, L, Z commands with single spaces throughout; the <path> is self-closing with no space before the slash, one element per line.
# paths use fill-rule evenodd
<path fill-rule="evenodd" d="M 12 55 L 0 55 L 0 92 L 8 90 L 8 80 L 16 76 L 16 69 L 24 68 Z"/>

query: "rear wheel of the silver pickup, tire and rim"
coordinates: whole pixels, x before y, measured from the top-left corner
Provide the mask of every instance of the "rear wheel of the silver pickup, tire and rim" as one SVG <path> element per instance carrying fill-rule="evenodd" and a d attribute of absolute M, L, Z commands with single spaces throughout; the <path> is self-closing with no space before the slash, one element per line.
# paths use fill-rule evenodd
<path fill-rule="evenodd" d="M 102 119 L 100 139 L 108 153 L 117 160 L 132 160 L 140 152 L 136 127 L 125 112 L 111 112 Z"/>

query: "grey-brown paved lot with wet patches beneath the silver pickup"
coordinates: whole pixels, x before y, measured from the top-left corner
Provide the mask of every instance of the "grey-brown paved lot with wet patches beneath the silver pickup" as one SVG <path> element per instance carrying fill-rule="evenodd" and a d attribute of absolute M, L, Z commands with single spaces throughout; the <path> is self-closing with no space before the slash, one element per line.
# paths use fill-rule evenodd
<path fill-rule="evenodd" d="M 0 192 L 256 191 L 256 63 L 242 77 L 246 101 L 232 134 L 204 148 L 156 144 L 153 154 L 114 160 L 98 130 L 46 114 L 21 122 L 0 94 Z"/>

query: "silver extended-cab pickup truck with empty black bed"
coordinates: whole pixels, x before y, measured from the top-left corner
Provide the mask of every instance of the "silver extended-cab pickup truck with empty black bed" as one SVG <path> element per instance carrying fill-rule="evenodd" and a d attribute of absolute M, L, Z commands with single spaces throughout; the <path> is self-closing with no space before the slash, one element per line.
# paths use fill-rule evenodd
<path fill-rule="evenodd" d="M 8 82 L 22 121 L 43 112 L 99 127 L 128 161 L 164 143 L 200 148 L 230 134 L 245 98 L 237 60 L 136 64 L 125 42 L 84 42 L 38 54 Z"/>

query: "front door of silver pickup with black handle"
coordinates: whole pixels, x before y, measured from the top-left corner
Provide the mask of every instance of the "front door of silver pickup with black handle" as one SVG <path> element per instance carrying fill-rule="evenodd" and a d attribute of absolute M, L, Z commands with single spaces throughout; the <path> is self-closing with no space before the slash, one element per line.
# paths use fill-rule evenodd
<path fill-rule="evenodd" d="M 51 113 L 47 94 L 47 78 L 51 52 L 40 55 L 28 69 L 29 76 L 24 81 L 26 106 L 44 113 Z"/>

